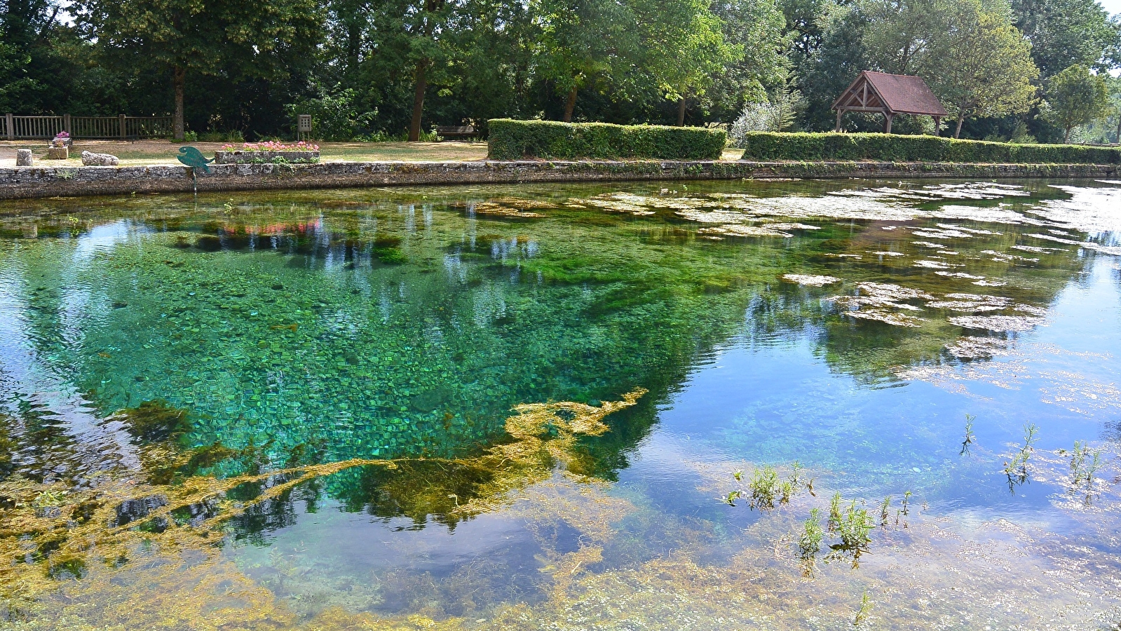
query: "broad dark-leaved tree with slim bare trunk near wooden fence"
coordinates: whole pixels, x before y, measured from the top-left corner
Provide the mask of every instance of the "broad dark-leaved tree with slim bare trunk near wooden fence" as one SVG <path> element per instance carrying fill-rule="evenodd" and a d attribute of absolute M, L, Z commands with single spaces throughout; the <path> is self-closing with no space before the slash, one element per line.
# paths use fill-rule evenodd
<path fill-rule="evenodd" d="M 176 140 L 188 73 L 277 81 L 322 39 L 316 0 L 75 0 L 71 10 L 111 63 L 170 73 Z"/>

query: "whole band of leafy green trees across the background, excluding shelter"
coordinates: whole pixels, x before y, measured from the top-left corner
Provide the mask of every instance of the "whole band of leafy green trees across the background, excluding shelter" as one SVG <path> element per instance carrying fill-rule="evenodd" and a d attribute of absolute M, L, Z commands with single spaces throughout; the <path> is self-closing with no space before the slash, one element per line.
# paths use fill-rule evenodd
<path fill-rule="evenodd" d="M 177 131 L 213 139 L 290 136 L 296 113 L 313 114 L 326 140 L 416 140 L 498 117 L 822 131 L 833 127 L 833 99 L 877 69 L 924 76 L 951 112 L 945 134 L 1117 141 L 1121 16 L 1110 11 L 1119 9 L 1094 0 L 0 0 L 0 111 L 174 114 Z M 876 115 L 845 120 L 854 131 L 882 127 Z M 934 131 L 910 117 L 892 129 Z"/>

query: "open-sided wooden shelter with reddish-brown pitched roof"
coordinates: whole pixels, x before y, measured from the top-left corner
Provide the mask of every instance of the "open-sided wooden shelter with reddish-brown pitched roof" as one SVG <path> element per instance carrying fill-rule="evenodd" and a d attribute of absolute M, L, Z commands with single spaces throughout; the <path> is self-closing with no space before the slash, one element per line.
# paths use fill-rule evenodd
<path fill-rule="evenodd" d="M 841 131 L 841 115 L 845 112 L 883 114 L 884 133 L 891 133 L 891 119 L 896 114 L 933 117 L 935 133 L 943 117 L 949 115 L 923 77 L 872 71 L 860 73 L 833 102 L 833 109 L 837 111 L 837 124 L 834 131 Z"/>

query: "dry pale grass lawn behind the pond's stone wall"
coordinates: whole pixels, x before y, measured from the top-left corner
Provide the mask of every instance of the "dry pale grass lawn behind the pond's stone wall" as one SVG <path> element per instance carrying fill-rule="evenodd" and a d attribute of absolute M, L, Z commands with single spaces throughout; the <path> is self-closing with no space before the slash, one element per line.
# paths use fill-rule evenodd
<path fill-rule="evenodd" d="M 211 157 L 224 142 L 189 142 Z M 0 141 L 0 167 L 16 166 L 16 149 L 31 149 L 36 166 L 81 166 L 82 151 L 112 154 L 122 165 L 178 165 L 180 145 L 167 140 L 76 140 L 68 160 L 46 160 L 46 141 Z M 725 149 L 723 159 L 738 160 L 742 149 Z M 321 142 L 325 163 L 385 160 L 466 161 L 487 159 L 485 142 Z"/>

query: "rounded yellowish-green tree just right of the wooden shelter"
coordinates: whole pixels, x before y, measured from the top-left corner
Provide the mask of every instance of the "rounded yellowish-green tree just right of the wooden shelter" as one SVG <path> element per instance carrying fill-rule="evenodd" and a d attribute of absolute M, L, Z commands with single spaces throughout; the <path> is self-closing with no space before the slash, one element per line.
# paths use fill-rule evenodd
<path fill-rule="evenodd" d="M 957 119 L 954 138 L 966 118 L 1028 111 L 1039 69 L 1023 35 L 1006 13 L 985 9 L 980 0 L 955 0 L 947 12 L 949 28 L 934 38 L 925 74 Z"/>

